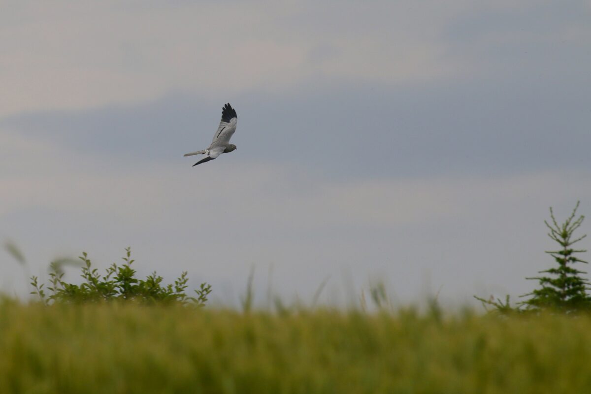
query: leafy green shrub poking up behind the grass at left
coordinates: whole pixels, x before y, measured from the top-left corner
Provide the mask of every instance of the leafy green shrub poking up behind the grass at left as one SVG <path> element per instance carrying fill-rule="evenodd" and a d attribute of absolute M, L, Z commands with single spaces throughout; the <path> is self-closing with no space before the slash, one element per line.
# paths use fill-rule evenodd
<path fill-rule="evenodd" d="M 113 263 L 106 269 L 105 275 L 100 275 L 98 269 L 92 268 L 92 263 L 86 252 L 82 253 L 79 259 L 82 261 L 82 284 L 70 284 L 63 280 L 64 272 L 60 262 L 52 262 L 50 265 L 49 286 L 39 284 L 37 276 L 31 277 L 31 285 L 34 291 L 31 294 L 37 295 L 44 304 L 60 303 L 85 303 L 101 301 L 139 301 L 148 304 L 154 303 L 177 303 L 195 304 L 203 307 L 207 301 L 207 295 L 212 291 L 212 286 L 202 283 L 196 289 L 196 297 L 189 297 L 186 294 L 188 287 L 187 272 L 181 273 L 174 284 L 163 285 L 163 277 L 154 271 L 145 279 L 138 279 L 135 276 L 135 269 L 132 264 L 131 248 L 126 248 L 124 263 L 117 265 Z M 46 293 L 46 289 L 49 294 Z"/>

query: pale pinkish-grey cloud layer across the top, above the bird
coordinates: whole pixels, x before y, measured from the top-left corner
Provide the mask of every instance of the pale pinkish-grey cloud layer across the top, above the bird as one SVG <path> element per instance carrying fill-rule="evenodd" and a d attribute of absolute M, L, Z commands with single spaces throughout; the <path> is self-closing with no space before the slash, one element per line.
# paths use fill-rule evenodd
<path fill-rule="evenodd" d="M 532 1 L 10 2 L 0 16 L 0 116 L 178 91 L 223 102 L 335 81 L 420 87 L 532 70 L 584 77 L 588 13 L 582 2 Z"/>

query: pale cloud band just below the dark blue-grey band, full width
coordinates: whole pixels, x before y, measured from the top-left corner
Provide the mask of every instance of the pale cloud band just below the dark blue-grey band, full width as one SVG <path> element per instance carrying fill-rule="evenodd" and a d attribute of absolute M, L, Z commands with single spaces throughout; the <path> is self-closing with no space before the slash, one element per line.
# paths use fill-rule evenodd
<path fill-rule="evenodd" d="M 236 166 L 225 157 L 206 169 L 191 168 L 182 159 L 152 166 L 125 157 L 105 163 L 101 154 L 80 154 L 8 133 L 0 135 L 0 146 L 0 166 L 11 168 L 0 178 L 7 190 L 0 211 L 5 214 L 37 207 L 149 222 L 162 219 L 165 207 L 206 206 L 206 222 L 231 211 L 234 220 L 245 223 L 381 227 L 461 217 L 466 206 L 473 206 L 471 201 L 524 201 L 548 185 L 556 190 L 579 186 L 583 191 L 589 186 L 577 171 L 568 177 L 553 171 L 488 178 L 339 180 L 264 161 Z M 232 209 L 237 206 L 239 210 Z"/>

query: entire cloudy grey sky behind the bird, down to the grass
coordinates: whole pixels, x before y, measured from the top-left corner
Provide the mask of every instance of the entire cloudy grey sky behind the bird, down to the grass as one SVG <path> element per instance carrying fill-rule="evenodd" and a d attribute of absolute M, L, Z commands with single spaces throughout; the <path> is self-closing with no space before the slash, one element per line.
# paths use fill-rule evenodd
<path fill-rule="evenodd" d="M 548 207 L 591 212 L 590 1 L 1 8 L 5 292 L 131 246 L 227 305 L 253 266 L 261 304 L 473 304 L 553 264 Z M 191 167 L 226 102 L 238 150 Z"/>

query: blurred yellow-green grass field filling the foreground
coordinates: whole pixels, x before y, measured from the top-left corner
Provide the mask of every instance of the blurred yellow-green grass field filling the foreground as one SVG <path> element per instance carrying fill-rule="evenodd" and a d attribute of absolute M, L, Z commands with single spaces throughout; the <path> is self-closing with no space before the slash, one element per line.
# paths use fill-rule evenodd
<path fill-rule="evenodd" d="M 591 318 L 0 302 L 0 393 L 587 393 Z"/>

